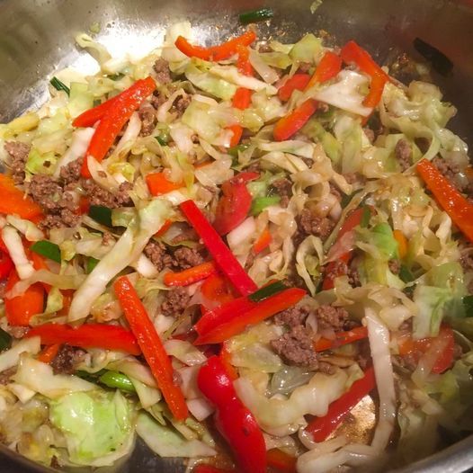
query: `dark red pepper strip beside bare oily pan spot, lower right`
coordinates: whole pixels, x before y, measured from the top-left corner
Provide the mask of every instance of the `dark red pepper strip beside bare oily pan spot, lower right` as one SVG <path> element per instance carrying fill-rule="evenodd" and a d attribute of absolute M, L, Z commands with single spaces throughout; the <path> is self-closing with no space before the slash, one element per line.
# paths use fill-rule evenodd
<path fill-rule="evenodd" d="M 316 417 L 311 421 L 306 430 L 312 434 L 315 442 L 324 442 L 326 438 L 335 432 L 344 418 L 350 414 L 350 411 L 356 406 L 363 397 L 370 394 L 376 387 L 374 370 L 370 367 L 365 371 L 363 378 L 357 379 L 352 387 L 342 397 L 339 397 L 330 406 L 324 417 Z"/>

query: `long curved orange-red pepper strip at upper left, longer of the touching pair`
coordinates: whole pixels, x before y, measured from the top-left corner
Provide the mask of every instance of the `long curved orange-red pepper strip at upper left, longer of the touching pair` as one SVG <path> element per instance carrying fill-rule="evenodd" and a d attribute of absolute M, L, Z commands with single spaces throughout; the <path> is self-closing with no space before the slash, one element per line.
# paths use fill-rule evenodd
<path fill-rule="evenodd" d="M 152 77 L 139 79 L 126 91 L 117 96 L 112 107 L 103 115 L 85 153 L 84 164 L 81 173 L 84 177 L 90 177 L 87 167 L 87 157 L 93 156 L 97 161 L 102 161 L 120 130 L 129 120 L 132 113 L 145 101 L 149 94 L 156 89 L 156 83 Z"/>

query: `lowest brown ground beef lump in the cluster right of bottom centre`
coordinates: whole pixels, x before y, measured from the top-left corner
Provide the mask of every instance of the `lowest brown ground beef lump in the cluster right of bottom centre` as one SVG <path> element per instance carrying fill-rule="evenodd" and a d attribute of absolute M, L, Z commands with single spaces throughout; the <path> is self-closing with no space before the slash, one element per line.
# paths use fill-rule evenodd
<path fill-rule="evenodd" d="M 290 332 L 271 342 L 272 349 L 290 365 L 318 369 L 318 355 L 314 341 L 304 326 L 295 326 Z"/>

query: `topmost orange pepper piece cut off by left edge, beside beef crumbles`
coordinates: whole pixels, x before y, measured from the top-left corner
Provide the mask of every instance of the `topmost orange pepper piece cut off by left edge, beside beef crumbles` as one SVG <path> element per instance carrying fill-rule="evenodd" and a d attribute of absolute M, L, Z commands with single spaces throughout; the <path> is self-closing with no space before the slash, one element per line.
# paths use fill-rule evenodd
<path fill-rule="evenodd" d="M 5 174 L 0 174 L 0 196 L 0 213 L 27 220 L 43 217 L 40 206 L 16 188 L 13 179 Z"/>

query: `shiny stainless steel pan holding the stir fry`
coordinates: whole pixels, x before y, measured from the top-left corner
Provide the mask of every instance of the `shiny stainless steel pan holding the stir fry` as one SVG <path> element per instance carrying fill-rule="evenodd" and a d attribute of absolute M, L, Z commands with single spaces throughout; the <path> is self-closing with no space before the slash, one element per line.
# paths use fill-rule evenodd
<path fill-rule="evenodd" d="M 159 45 L 166 25 L 189 20 L 201 43 L 217 42 L 237 30 L 237 12 L 272 6 L 271 25 L 260 37 L 290 42 L 324 29 L 338 42 L 356 39 L 381 63 L 406 51 L 431 62 L 434 81 L 459 108 L 451 127 L 472 143 L 473 3 L 470 0 L 325 0 L 315 13 L 313 0 L 0 0 L 0 121 L 12 120 L 47 99 L 47 78 L 73 64 L 93 61 L 76 49 L 74 36 L 100 23 L 99 37 L 120 54 Z M 262 38 L 262 39 L 263 39 Z M 473 436 L 403 469 L 404 472 L 461 472 L 473 468 Z M 88 469 L 73 469 L 83 473 Z M 0 445 L 0 471 L 54 471 L 22 459 Z M 178 460 L 162 460 L 138 442 L 129 457 L 101 473 L 183 471 Z"/>

